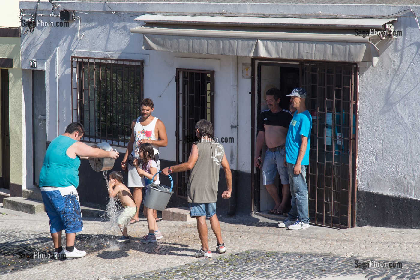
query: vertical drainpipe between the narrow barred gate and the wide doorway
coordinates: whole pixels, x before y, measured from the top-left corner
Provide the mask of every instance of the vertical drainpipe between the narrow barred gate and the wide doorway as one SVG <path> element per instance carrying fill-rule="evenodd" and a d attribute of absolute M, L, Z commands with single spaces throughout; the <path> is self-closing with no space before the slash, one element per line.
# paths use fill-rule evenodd
<path fill-rule="evenodd" d="M 228 215 L 236 214 L 236 202 L 238 200 L 238 57 L 231 56 L 231 134 L 234 135 L 236 141 L 235 148 L 231 150 L 231 158 L 234 157 L 236 162 L 236 172 L 232 178 L 232 194 L 229 198 Z M 236 149 L 236 153 L 234 153 Z"/>

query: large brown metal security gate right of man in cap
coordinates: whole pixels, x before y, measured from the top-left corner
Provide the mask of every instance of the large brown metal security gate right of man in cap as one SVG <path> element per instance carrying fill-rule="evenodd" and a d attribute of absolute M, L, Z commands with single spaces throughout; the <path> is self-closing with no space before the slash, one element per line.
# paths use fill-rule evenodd
<path fill-rule="evenodd" d="M 356 193 L 356 65 L 301 63 L 301 85 L 312 115 L 310 222 L 354 227 Z"/>

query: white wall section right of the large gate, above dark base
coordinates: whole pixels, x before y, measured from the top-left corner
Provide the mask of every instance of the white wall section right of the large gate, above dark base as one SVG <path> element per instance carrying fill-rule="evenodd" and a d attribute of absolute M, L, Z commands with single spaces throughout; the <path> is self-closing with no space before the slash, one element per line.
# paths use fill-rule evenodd
<path fill-rule="evenodd" d="M 359 189 L 420 199 L 420 30 L 413 17 L 395 26 L 378 65 L 360 67 Z"/>

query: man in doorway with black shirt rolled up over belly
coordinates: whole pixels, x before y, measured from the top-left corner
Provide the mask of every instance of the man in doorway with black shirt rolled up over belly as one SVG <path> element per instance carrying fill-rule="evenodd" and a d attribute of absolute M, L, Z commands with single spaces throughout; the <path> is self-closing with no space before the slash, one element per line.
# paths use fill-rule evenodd
<path fill-rule="evenodd" d="M 285 156 L 285 143 L 287 130 L 293 115 L 280 107 L 281 92 L 276 88 L 267 90 L 266 102 L 268 110 L 262 111 L 258 120 L 257 143 L 255 147 L 255 166 L 260 167 L 258 156 L 262 145 L 267 145 L 267 151 L 262 166 L 262 184 L 265 185 L 276 205 L 269 212 L 275 215 L 286 213 L 288 200 L 290 199 L 289 172 L 283 164 Z M 278 190 L 274 185 L 277 172 L 283 184 L 283 199 L 280 201 Z"/>

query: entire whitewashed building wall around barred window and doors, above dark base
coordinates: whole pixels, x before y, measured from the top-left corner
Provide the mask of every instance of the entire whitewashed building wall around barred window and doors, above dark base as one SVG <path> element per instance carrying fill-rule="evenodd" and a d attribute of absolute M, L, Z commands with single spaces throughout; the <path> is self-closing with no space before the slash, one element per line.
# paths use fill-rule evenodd
<path fill-rule="evenodd" d="M 412 8 L 417 14 L 416 5 L 315 5 L 315 4 L 211 4 L 211 3 L 110 3 L 117 11 L 125 13 L 149 13 L 156 11 L 163 14 L 203 14 L 214 15 L 356 15 L 383 16 Z M 175 160 L 175 124 L 176 124 L 176 82 L 173 80 L 177 67 L 215 70 L 215 133 L 218 135 L 234 134 L 231 129 L 232 98 L 231 58 L 218 55 L 193 55 L 163 53 L 142 50 L 142 36 L 131 34 L 129 29 L 139 23 L 131 18 L 121 18 L 103 13 L 109 8 L 104 3 L 60 1 L 61 9 L 81 11 L 81 32 L 83 39 L 77 38 L 78 21 L 70 27 L 46 27 L 36 29 L 34 33 L 22 35 L 22 59 L 45 60 L 47 72 L 47 125 L 48 140 L 57 135 L 56 128 L 56 89 L 55 49 L 60 47 L 60 133 L 71 122 L 71 76 L 70 56 L 79 50 L 97 51 L 99 56 L 118 57 L 118 53 L 131 56 L 147 57 L 144 67 L 144 96 L 155 102 L 154 115 L 165 123 L 170 139 L 168 147 L 162 148 L 162 158 Z M 33 2 L 22 1 L 20 7 L 33 11 Z M 299 7 L 299 9 L 297 9 Z M 50 13 L 48 2 L 41 2 L 38 13 Z M 98 12 L 95 12 L 98 11 Z M 360 65 L 359 84 L 359 138 L 358 138 L 358 188 L 377 193 L 420 199 L 420 130 L 417 112 L 419 80 L 419 42 L 420 30 L 411 12 L 403 13 L 395 24 L 396 30 L 402 30 L 403 36 L 394 42 L 381 42 L 381 57 L 373 68 L 370 63 Z M 49 18 L 45 17 L 46 20 Z M 114 54 L 110 54 L 110 52 Z M 124 55 L 121 55 L 124 56 Z M 205 58 L 202 61 L 194 58 Z M 251 80 L 241 78 L 241 63 L 250 63 L 251 58 L 239 57 L 238 65 L 238 139 L 234 144 L 226 144 L 226 154 L 231 155 L 238 147 L 238 164 L 231 161 L 231 167 L 250 172 L 251 162 Z M 22 63 L 24 66 L 24 63 Z M 207 68 L 207 69 L 206 69 Z M 234 86 L 234 85 L 233 85 Z M 48 87 L 48 86 L 47 86 Z M 163 93 L 163 94 L 162 94 Z M 162 94 L 162 97 L 158 97 Z M 48 98 L 50 95 L 50 98 Z"/>

